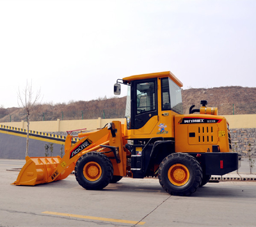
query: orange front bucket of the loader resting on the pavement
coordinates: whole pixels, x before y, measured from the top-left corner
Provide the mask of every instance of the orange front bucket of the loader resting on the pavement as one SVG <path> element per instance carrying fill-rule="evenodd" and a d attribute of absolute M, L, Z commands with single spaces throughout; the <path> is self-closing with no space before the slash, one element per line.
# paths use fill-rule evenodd
<path fill-rule="evenodd" d="M 15 185 L 36 185 L 51 182 L 51 176 L 58 164 L 60 164 L 61 157 L 26 157 L 26 164 L 20 170 L 17 180 L 13 182 Z M 72 169 L 68 169 L 71 173 Z M 54 180 L 62 180 L 66 178 L 69 173 L 59 175 Z M 50 178 L 51 179 L 51 178 Z"/>

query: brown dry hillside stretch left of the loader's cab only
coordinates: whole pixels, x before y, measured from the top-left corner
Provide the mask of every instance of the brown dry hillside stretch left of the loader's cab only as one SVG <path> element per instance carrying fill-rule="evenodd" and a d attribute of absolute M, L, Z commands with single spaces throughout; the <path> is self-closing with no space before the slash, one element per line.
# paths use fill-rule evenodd
<path fill-rule="evenodd" d="M 31 121 L 81 120 L 96 118 L 124 118 L 126 97 L 98 98 L 97 100 L 70 101 L 68 104 L 39 104 L 31 111 Z M 22 108 L 0 108 L 0 121 L 26 120 L 26 112 Z"/>

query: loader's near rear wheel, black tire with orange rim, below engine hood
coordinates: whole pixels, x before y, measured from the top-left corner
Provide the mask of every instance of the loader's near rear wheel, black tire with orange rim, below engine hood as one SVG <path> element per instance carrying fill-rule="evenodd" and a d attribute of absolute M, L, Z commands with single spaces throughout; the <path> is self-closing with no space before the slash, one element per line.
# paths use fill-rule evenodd
<path fill-rule="evenodd" d="M 159 166 L 159 183 L 173 196 L 193 194 L 201 184 L 202 177 L 199 162 L 188 153 L 172 153 Z"/>

